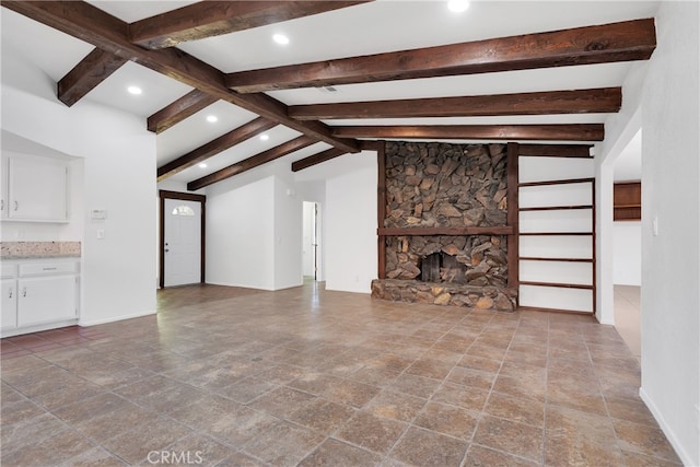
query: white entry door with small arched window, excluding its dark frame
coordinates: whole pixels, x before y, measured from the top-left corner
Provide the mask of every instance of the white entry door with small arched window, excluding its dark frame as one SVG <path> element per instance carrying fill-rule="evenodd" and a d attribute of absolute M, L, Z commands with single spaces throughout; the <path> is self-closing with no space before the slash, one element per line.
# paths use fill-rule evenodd
<path fill-rule="evenodd" d="M 165 198 L 164 285 L 201 281 L 201 203 Z"/>

